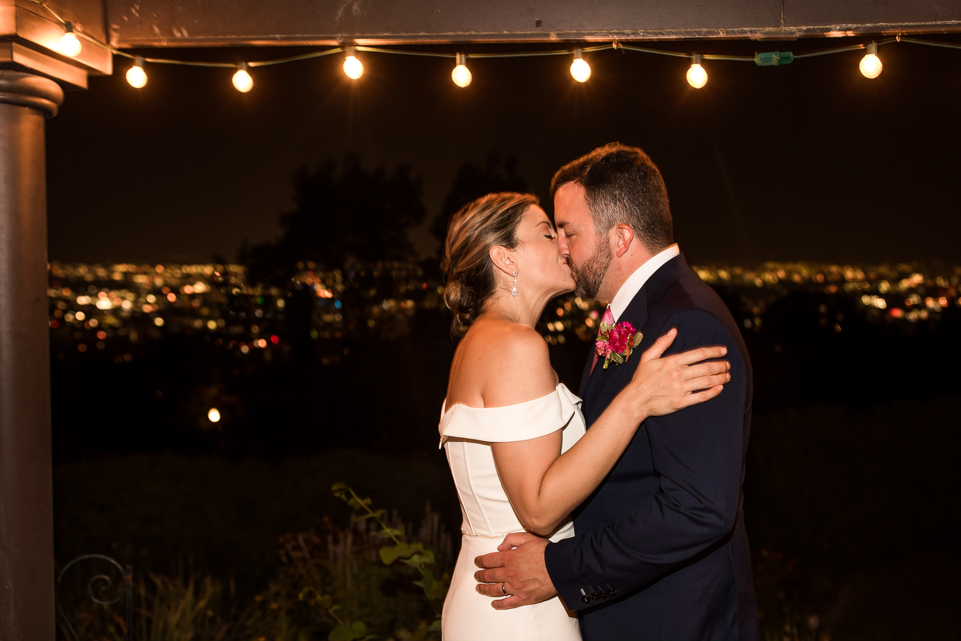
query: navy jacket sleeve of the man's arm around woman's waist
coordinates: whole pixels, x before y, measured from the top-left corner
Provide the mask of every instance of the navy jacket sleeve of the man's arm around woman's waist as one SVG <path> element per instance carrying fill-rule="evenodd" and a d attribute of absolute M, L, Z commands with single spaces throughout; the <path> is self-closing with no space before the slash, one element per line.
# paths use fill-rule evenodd
<path fill-rule="evenodd" d="M 724 324 L 703 309 L 682 309 L 656 334 L 678 328 L 670 353 L 727 345 L 731 381 L 706 403 L 648 419 L 635 438 L 649 438 L 659 483 L 653 494 L 624 496 L 624 515 L 600 530 L 550 544 L 545 563 L 569 608 L 581 588 L 641 588 L 712 548 L 733 530 L 741 509 L 747 367 Z M 636 366 L 636 365 L 635 365 Z"/>

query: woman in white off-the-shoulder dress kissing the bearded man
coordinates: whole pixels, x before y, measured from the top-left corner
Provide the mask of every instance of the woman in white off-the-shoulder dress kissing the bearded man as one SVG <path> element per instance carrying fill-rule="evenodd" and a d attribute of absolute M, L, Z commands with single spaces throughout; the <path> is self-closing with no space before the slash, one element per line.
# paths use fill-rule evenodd
<path fill-rule="evenodd" d="M 495 610 L 480 595 L 473 559 L 509 532 L 556 541 L 574 535 L 571 512 L 604 480 L 649 416 L 702 403 L 729 380 L 723 347 L 661 358 L 676 331 L 640 358 L 633 380 L 585 432 L 580 399 L 551 366 L 534 329 L 544 307 L 574 289 L 557 235 L 535 196 L 493 193 L 451 220 L 442 268 L 457 345 L 439 425 L 463 515 L 460 555 L 444 603 L 445 641 L 580 639 L 554 597 Z M 590 264 L 582 267 L 590 269 Z M 585 376 L 588 371 L 585 370 Z M 698 391 L 701 390 L 701 391 Z M 507 594 L 502 583 L 501 589 Z"/>

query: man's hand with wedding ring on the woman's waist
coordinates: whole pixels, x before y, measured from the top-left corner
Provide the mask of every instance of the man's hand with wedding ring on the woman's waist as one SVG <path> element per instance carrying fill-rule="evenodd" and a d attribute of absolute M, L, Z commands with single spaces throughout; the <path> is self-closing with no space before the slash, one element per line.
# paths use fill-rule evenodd
<path fill-rule="evenodd" d="M 528 532 L 507 534 L 504 543 L 497 547 L 500 552 L 474 559 L 479 568 L 485 568 L 474 573 L 478 592 L 488 597 L 502 597 L 491 602 L 497 610 L 537 604 L 554 597 L 557 591 L 544 566 L 547 545 L 547 539 Z M 509 596 L 503 598 L 505 594 Z"/>

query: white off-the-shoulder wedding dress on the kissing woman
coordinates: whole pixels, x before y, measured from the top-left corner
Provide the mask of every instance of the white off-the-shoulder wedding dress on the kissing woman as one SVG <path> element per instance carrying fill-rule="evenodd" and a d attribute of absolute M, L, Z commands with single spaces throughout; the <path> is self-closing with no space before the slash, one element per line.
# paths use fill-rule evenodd
<path fill-rule="evenodd" d="M 446 405 L 446 404 L 445 404 Z M 539 604 L 495 610 L 480 594 L 474 558 L 497 552 L 510 532 L 524 531 L 497 476 L 490 444 L 524 441 L 563 429 L 561 452 L 584 434 L 580 399 L 560 383 L 539 399 L 506 407 L 442 409 L 440 442 L 447 452 L 463 515 L 460 555 L 441 620 L 444 641 L 579 641 L 578 619 L 558 597 Z M 574 536 L 574 524 L 562 526 L 552 541 Z"/>

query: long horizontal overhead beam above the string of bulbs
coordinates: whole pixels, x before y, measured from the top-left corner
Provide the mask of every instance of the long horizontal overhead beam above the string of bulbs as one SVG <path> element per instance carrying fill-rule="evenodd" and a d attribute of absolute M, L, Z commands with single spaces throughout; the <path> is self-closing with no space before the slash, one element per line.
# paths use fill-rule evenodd
<path fill-rule="evenodd" d="M 961 2 L 915 0 L 106 0 L 121 48 L 795 39 L 961 32 Z"/>

